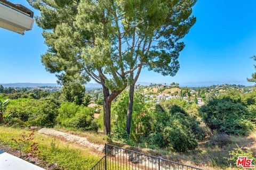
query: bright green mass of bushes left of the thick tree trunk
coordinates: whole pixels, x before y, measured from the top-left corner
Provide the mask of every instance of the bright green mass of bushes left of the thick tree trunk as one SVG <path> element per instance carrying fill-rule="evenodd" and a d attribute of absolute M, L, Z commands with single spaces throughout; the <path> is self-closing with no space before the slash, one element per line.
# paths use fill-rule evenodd
<path fill-rule="evenodd" d="M 84 86 L 79 84 L 71 84 L 61 92 L 14 90 L 12 94 L 0 94 L 1 101 L 7 98 L 11 100 L 3 112 L 6 125 L 52 128 L 59 124 L 66 128 L 98 130 L 97 120 L 92 116 L 94 109 L 86 107 L 91 97 L 85 95 Z"/>

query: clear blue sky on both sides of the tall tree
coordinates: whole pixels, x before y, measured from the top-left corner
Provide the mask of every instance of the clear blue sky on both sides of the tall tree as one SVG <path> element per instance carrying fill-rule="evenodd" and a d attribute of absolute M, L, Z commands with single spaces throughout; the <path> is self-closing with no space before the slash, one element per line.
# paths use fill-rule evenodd
<path fill-rule="evenodd" d="M 31 8 L 25 0 L 9 0 Z M 39 13 L 35 11 L 35 14 Z M 254 71 L 256 54 L 256 1 L 198 0 L 197 22 L 183 39 L 175 77 L 143 70 L 139 82 L 243 83 Z M 25 36 L 0 29 L 0 83 L 42 82 L 57 79 L 45 71 L 40 55 L 47 47 L 36 23 Z"/>

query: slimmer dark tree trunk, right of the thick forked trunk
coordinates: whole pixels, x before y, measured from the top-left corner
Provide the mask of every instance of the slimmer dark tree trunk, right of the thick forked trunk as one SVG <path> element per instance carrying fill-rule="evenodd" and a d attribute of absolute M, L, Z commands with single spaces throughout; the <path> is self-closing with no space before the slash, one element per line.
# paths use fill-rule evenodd
<path fill-rule="evenodd" d="M 134 86 L 135 86 L 135 84 L 130 85 L 129 103 L 128 103 L 127 117 L 126 117 L 126 133 L 129 135 L 131 132 L 131 123 L 132 123 L 132 106 L 133 106 Z"/>

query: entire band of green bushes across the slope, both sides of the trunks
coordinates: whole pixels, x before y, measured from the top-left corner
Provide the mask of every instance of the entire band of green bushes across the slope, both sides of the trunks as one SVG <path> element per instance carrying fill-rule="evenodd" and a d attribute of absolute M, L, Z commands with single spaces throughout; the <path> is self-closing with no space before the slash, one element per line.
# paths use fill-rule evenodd
<path fill-rule="evenodd" d="M 77 86 L 72 90 L 67 90 L 68 88 L 55 92 L 16 90 L 13 93 L 0 94 L 1 101 L 16 96 L 2 108 L 3 123 L 23 128 L 41 126 L 79 131 L 102 130 L 102 106 L 87 107 L 90 103 L 100 104 L 97 101 L 102 97 L 101 92 L 87 92 Z M 242 91 L 241 88 L 228 88 L 216 96 L 208 95 L 201 89 L 201 95 L 204 93 L 206 96 L 205 104 L 198 106 L 194 100 L 182 98 L 162 100 L 159 104 L 147 102 L 143 88 L 140 87 L 134 94 L 130 135 L 125 131 L 126 106 L 129 103 L 129 91 L 125 90 L 111 107 L 111 140 L 131 146 L 179 153 L 198 150 L 205 141 L 209 141 L 207 145 L 210 148 L 229 148 L 230 145 L 233 146 L 234 139 L 245 139 L 255 129 L 256 90 Z M 164 88 L 166 89 L 168 88 Z M 186 90 L 189 89 L 181 89 L 180 93 L 185 94 Z M 195 95 L 198 95 L 198 92 L 194 93 L 194 97 Z M 100 113 L 100 117 L 94 118 L 94 113 Z M 250 152 L 236 147 L 234 150 L 230 148 L 229 151 L 233 155 L 237 151 Z M 255 153 L 252 152 L 252 156 L 253 154 Z M 218 157 L 211 159 L 216 162 L 214 165 L 228 166 L 234 162 L 234 157 L 229 160 Z"/>

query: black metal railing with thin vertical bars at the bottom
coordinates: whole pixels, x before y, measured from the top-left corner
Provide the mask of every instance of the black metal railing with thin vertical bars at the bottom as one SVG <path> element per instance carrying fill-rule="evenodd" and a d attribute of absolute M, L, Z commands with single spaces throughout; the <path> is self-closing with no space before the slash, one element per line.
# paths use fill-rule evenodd
<path fill-rule="evenodd" d="M 103 163 L 103 165 L 102 165 Z M 105 156 L 94 165 L 92 170 L 202 170 L 171 160 L 155 157 L 141 152 L 105 145 Z"/>

